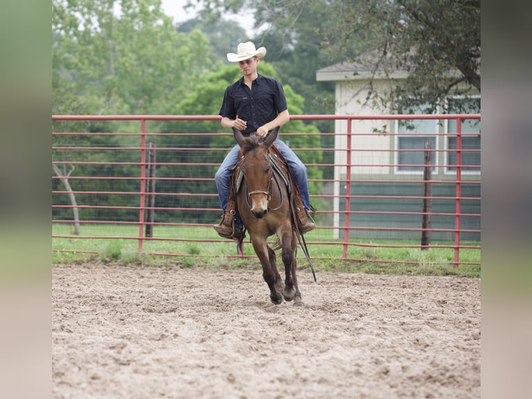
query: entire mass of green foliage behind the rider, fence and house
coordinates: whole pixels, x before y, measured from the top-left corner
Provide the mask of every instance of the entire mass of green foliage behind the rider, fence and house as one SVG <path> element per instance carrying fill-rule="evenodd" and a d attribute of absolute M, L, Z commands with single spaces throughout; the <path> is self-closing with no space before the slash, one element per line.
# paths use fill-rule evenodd
<path fill-rule="evenodd" d="M 283 83 L 292 115 L 333 113 L 333 83 L 315 81 L 315 72 L 341 60 L 374 56 L 374 70 L 385 72 L 404 68 L 410 72 L 405 86 L 388 93 L 374 92 L 374 99 L 394 100 L 394 106 L 407 109 L 417 103 L 434 104 L 433 99 L 446 93 L 460 93 L 462 88 L 480 90 L 479 1 L 458 0 L 190 0 L 203 5 L 200 17 L 177 26 L 160 8 L 160 0 L 53 0 L 52 21 L 52 109 L 56 114 L 170 114 L 217 115 L 226 86 L 240 77 L 235 65 L 226 65 L 225 54 L 235 51 L 247 40 L 243 29 L 220 18 L 222 10 L 238 13 L 242 8 L 255 11 L 256 37 L 249 38 L 267 47 L 267 58 L 259 73 Z M 415 7 L 414 7 L 415 6 Z M 449 70 L 463 76 L 447 79 Z M 442 82 L 444 83 L 442 85 Z M 463 84 L 456 90 L 457 83 Z M 447 90 L 447 91 L 446 91 Z M 379 98 L 380 97 L 380 98 Z M 401 102 L 402 101 L 402 102 Z M 468 110 L 471 111 L 471 110 Z M 455 109 L 454 112 L 460 112 Z M 191 133 L 158 136 L 158 147 L 172 151 L 158 152 L 162 165 L 159 177 L 190 176 L 212 179 L 223 149 L 233 144 L 230 132 L 219 122 L 153 122 L 152 131 Z M 110 137 L 96 133 L 110 131 L 138 132 L 137 122 L 54 122 L 54 131 L 89 132 L 85 136 L 53 136 L 53 145 L 61 146 L 138 146 L 137 137 Z M 288 136 L 288 133 L 333 131 L 333 122 L 318 123 L 292 120 L 281 136 L 293 148 L 332 147 L 333 136 Z M 192 134 L 194 133 L 194 134 Z M 206 136 L 197 133 L 225 133 Z M 320 143 L 319 140 L 322 140 Z M 175 148 L 175 149 L 174 149 Z M 190 151 L 188 149 L 196 149 Z M 198 150 L 199 149 L 199 150 Z M 206 158 L 201 149 L 219 149 Z M 333 152 L 301 151 L 307 164 L 333 163 Z M 133 152 L 86 152 L 54 150 L 53 160 L 105 162 L 113 159 L 123 165 L 76 165 L 72 177 L 137 175 L 138 162 Z M 202 168 L 186 163 L 204 162 Z M 108 170 L 106 169 L 108 168 Z M 135 169 L 135 170 L 133 170 Z M 322 172 L 333 168 L 308 168 L 310 179 L 321 179 Z M 331 177 L 331 176 L 324 176 Z M 196 182 L 197 183 L 197 182 Z M 98 179 L 72 179 L 78 191 L 137 191 L 138 182 Z M 175 184 L 175 183 L 174 183 Z M 214 192 L 213 184 L 192 185 L 158 183 L 163 193 L 183 190 Z M 60 181 L 53 180 L 53 190 Z M 319 183 L 311 183 L 312 193 Z M 82 194 L 80 194 L 82 195 Z M 65 203 L 54 195 L 53 202 Z M 84 204 L 135 204 L 135 196 L 110 197 L 87 195 Z M 175 199 L 176 206 L 186 206 L 185 199 Z M 158 196 L 158 200 L 165 199 Z M 168 199 L 168 198 L 167 198 Z M 217 208 L 217 199 L 205 199 Z M 205 206 L 205 204 L 203 204 Z M 319 208 L 319 205 L 318 205 Z M 66 213 L 67 209 L 54 209 Z M 87 218 L 110 220 L 103 209 Z M 134 211 L 122 210 L 121 220 L 134 218 Z M 158 215 L 160 218 L 176 217 Z"/>

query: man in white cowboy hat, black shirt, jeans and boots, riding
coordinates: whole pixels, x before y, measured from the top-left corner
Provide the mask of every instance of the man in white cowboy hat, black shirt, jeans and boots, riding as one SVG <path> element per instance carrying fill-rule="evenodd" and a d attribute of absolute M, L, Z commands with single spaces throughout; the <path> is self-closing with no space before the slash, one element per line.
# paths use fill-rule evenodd
<path fill-rule="evenodd" d="M 252 42 L 238 44 L 237 54 L 227 54 L 229 62 L 238 62 L 242 78 L 226 88 L 219 115 L 222 116 L 222 127 L 238 129 L 244 137 L 253 133 L 259 138 L 265 138 L 268 131 L 281 127 L 290 120 L 281 83 L 257 72 L 259 60 L 265 54 L 265 47 L 256 49 Z M 299 220 L 299 231 L 305 234 L 315 228 L 309 214 L 313 208 L 310 205 L 306 166 L 279 137 L 276 137 L 274 145 L 279 148 L 288 163 L 301 193 L 297 196 L 295 211 Z M 237 144 L 224 158 L 215 175 L 219 202 L 224 213 L 219 224 L 213 227 L 219 236 L 234 240 L 238 240 L 242 235 L 242 220 L 235 201 L 229 199 L 229 188 L 239 151 L 240 145 Z"/>

